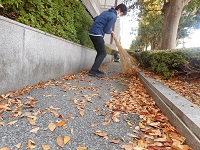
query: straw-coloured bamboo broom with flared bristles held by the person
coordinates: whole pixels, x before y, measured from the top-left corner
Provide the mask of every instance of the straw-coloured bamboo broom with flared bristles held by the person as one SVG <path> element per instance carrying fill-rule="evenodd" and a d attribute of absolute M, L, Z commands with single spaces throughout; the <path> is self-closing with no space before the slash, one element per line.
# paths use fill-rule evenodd
<path fill-rule="evenodd" d="M 116 39 L 115 36 L 113 36 L 113 38 L 118 48 L 120 63 L 121 63 L 123 73 L 133 74 L 136 76 L 137 73 L 139 72 L 139 69 L 138 69 L 139 63 L 134 57 L 129 55 L 128 52 L 122 48 L 121 44 L 119 43 L 119 41 Z"/>

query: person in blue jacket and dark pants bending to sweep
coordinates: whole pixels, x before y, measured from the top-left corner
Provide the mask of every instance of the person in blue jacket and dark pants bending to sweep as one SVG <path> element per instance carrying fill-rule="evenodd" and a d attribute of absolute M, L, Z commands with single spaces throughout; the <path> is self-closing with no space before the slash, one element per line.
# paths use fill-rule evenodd
<path fill-rule="evenodd" d="M 104 11 L 99 16 L 94 18 L 94 23 L 89 30 L 89 36 L 95 50 L 97 51 L 97 55 L 94 64 L 88 73 L 89 76 L 99 78 L 103 78 L 105 76 L 105 73 L 99 70 L 99 67 L 107 55 L 104 35 L 112 34 L 112 36 L 114 36 L 112 27 L 115 24 L 117 17 L 125 16 L 126 14 L 126 5 L 119 4 L 117 7 Z"/>

